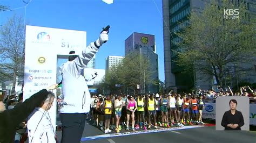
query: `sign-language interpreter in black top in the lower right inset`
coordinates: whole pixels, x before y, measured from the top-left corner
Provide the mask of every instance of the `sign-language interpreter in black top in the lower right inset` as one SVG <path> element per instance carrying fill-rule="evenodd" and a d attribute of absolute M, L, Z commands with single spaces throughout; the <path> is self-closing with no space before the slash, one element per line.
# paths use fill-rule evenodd
<path fill-rule="evenodd" d="M 224 113 L 221 121 L 221 126 L 225 127 L 225 130 L 241 130 L 241 126 L 245 124 L 242 113 L 237 111 L 236 108 L 237 101 L 235 99 L 231 99 L 230 110 Z"/>

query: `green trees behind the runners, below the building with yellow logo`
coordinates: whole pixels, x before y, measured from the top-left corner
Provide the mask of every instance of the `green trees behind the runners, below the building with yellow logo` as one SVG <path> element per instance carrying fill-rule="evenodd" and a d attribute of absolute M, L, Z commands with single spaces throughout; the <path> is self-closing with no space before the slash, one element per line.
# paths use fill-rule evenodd
<path fill-rule="evenodd" d="M 122 92 L 126 94 L 146 92 L 147 84 L 158 85 L 159 83 L 150 78 L 152 73 L 149 69 L 149 59 L 138 52 L 131 52 L 125 56 L 122 64 L 107 71 L 102 86 L 104 90 L 109 90 L 111 93 L 120 90 L 120 87 L 115 86 L 116 84 L 121 84 Z M 137 85 L 140 85 L 139 90 Z"/>

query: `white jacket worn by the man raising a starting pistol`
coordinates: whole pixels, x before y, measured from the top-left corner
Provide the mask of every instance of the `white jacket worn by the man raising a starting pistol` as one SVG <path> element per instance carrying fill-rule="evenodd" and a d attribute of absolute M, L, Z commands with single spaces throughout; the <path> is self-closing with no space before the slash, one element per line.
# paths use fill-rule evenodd
<path fill-rule="evenodd" d="M 68 61 L 60 67 L 64 96 L 60 113 L 88 113 L 90 111 L 91 95 L 85 81 L 84 70 L 97 52 L 98 47 L 91 42 L 75 60 Z"/>

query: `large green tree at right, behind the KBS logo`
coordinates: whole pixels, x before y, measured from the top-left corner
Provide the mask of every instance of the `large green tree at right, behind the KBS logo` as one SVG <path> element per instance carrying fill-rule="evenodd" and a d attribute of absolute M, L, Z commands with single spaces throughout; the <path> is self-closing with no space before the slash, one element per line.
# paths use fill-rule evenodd
<path fill-rule="evenodd" d="M 224 9 L 239 9 L 238 19 L 224 18 Z M 242 64 L 255 56 L 255 16 L 247 4 L 211 1 L 204 10 L 192 11 L 188 26 L 176 33 L 179 51 L 175 62 L 186 70 L 197 70 L 216 78 L 222 85 L 223 78 L 234 72 L 246 71 Z"/>

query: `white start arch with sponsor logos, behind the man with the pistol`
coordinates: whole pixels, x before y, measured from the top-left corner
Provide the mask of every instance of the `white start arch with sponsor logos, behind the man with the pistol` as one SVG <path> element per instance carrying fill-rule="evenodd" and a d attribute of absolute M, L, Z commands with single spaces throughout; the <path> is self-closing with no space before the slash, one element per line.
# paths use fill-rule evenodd
<path fill-rule="evenodd" d="M 86 47 L 86 32 L 26 26 L 24 100 L 57 82 L 57 59 Z M 50 110 L 56 123 L 56 105 Z"/>

